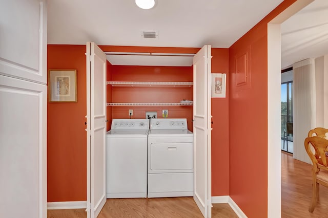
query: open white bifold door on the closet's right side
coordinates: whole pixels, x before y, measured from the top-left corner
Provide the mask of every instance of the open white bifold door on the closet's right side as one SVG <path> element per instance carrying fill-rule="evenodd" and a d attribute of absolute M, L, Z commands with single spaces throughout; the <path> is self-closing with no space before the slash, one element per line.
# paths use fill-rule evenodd
<path fill-rule="evenodd" d="M 194 200 L 211 217 L 211 46 L 194 56 Z"/>

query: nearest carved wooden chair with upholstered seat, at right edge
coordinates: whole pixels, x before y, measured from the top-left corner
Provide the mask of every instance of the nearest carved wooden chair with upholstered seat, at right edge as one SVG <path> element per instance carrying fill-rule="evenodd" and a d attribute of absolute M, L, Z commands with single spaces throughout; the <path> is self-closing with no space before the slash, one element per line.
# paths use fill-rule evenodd
<path fill-rule="evenodd" d="M 328 140 L 318 136 L 308 137 L 304 140 L 305 150 L 312 163 L 312 203 L 309 208 L 313 212 L 318 201 L 319 184 L 328 187 L 328 167 L 325 152 L 328 151 Z M 313 151 L 314 150 L 314 153 Z"/>

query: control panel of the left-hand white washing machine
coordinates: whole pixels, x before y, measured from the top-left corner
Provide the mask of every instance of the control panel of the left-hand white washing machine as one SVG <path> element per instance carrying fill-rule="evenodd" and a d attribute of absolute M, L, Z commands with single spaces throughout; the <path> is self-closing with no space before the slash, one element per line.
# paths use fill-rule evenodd
<path fill-rule="evenodd" d="M 149 129 L 149 119 L 113 119 L 111 129 Z"/>

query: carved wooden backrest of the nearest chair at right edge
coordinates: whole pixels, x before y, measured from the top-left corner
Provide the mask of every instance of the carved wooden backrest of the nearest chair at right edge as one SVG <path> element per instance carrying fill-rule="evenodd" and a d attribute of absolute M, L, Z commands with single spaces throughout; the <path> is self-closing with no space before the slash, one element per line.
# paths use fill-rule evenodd
<path fill-rule="evenodd" d="M 322 137 L 312 136 L 305 138 L 304 146 L 306 153 L 308 153 L 313 163 L 313 169 L 317 171 L 318 167 L 327 170 L 327 159 L 325 154 L 328 151 L 328 140 Z M 315 153 L 312 152 L 311 147 L 314 148 Z"/>

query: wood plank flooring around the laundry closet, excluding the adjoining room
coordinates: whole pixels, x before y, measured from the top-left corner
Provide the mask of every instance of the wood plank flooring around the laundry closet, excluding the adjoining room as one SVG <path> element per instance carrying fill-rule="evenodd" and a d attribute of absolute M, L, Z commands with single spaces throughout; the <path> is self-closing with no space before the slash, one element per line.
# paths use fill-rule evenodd
<path fill-rule="evenodd" d="M 48 210 L 48 218 L 85 218 L 85 209 Z M 194 217 L 202 218 L 192 197 L 153 199 L 107 199 L 98 218 L 116 217 Z M 214 204 L 214 218 L 238 217 L 228 204 Z"/>

